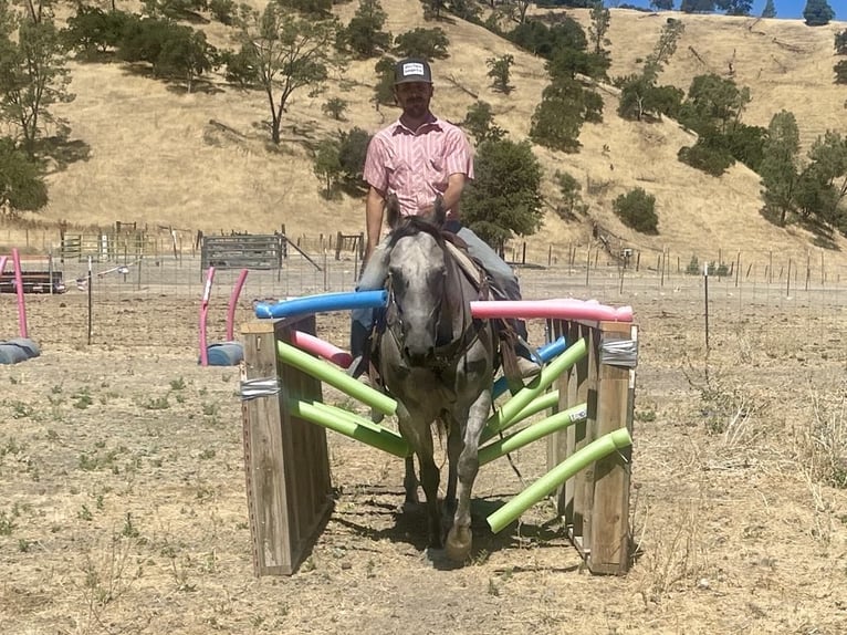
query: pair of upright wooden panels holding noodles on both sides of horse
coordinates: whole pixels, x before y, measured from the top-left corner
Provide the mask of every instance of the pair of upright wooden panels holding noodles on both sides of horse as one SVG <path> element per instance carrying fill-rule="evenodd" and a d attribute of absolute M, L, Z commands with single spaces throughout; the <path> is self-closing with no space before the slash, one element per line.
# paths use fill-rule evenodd
<path fill-rule="evenodd" d="M 637 329 L 624 322 L 548 321 L 568 345 L 585 337 L 588 354 L 553 388 L 560 410 L 585 403 L 587 417 L 548 437 L 548 469 L 595 438 L 632 429 L 635 354 L 609 363 L 611 342 L 631 342 Z M 309 555 L 333 509 L 325 429 L 292 416 L 291 399 L 322 399 L 321 382 L 282 363 L 276 342 L 292 330 L 315 334 L 314 315 L 254 320 L 242 327 L 242 424 L 250 530 L 255 575 L 290 575 Z M 615 360 L 617 361 L 617 360 Z M 255 389 L 253 389 L 255 386 Z M 598 574 L 623 575 L 631 560 L 629 486 L 631 448 L 582 470 L 556 492 L 568 538 Z"/>

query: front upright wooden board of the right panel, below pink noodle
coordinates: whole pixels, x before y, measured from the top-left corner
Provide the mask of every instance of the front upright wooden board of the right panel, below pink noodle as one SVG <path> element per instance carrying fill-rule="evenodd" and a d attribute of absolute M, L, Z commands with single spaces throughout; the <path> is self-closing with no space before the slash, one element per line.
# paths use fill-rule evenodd
<path fill-rule="evenodd" d="M 603 322 L 603 342 L 636 339 L 632 324 Z M 635 371 L 625 365 L 598 364 L 596 436 L 632 429 Z M 623 574 L 629 568 L 629 481 L 631 447 L 597 461 L 594 473 L 593 523 L 588 569 Z"/>

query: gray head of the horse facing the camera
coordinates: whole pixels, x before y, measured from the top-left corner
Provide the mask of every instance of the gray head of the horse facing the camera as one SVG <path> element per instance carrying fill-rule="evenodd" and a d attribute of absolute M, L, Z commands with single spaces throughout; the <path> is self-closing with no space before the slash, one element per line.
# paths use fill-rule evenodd
<path fill-rule="evenodd" d="M 396 313 L 389 322 L 412 365 L 431 360 L 438 344 L 447 279 L 440 199 L 426 216 L 398 218 L 389 239 L 388 277 Z"/>

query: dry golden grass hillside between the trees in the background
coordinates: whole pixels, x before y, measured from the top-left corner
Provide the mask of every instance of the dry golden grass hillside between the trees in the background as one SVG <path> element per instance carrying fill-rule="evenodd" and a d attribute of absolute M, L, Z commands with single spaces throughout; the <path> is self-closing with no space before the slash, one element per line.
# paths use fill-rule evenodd
<path fill-rule="evenodd" d="M 356 7 L 357 2 L 339 6 L 342 20 L 346 22 Z M 430 25 L 416 2 L 383 0 L 383 7 L 389 14 L 386 30 L 394 34 Z M 572 14 L 587 27 L 586 11 Z M 611 10 L 611 75 L 639 66 L 666 15 Z M 843 129 L 847 89 L 833 84 L 833 38 L 847 24 L 809 29 L 798 21 L 673 15 L 683 20 L 686 33 L 662 83 L 687 90 L 694 75 L 725 75 L 732 62 L 738 83 L 753 95 L 745 123 L 766 126 L 775 112 L 791 110 L 806 145 L 827 128 Z M 498 125 L 514 138 L 524 137 L 546 84 L 543 60 L 479 27 L 461 21 L 439 25 L 450 39 L 450 58 L 433 64 L 433 110 L 461 121 L 478 97 L 492 105 Z M 221 25 L 209 25 L 209 32 L 216 45 L 231 45 Z M 491 90 L 484 62 L 506 52 L 515 59 L 515 90 L 508 96 Z M 70 122 L 72 139 L 87 146 L 88 154 L 50 175 L 51 202 L 39 217 L 104 226 L 140 221 L 191 231 L 264 232 L 284 223 L 291 236 L 358 232 L 364 228 L 362 200 L 326 201 L 320 196 L 310 147 L 339 127 L 321 112 L 332 96 L 349 103 L 347 121 L 341 123 L 345 129 L 376 132 L 397 116 L 394 108 L 375 110 L 373 69 L 373 60 L 355 62 L 324 94 L 295 93 L 283 122 L 284 140 L 272 147 L 262 127 L 269 118 L 262 93 L 234 90 L 217 77 L 212 90 L 186 94 L 122 64 L 73 63 L 71 90 L 76 98 L 55 111 Z M 597 221 L 638 248 L 678 253 L 702 252 L 709 246 L 802 254 L 813 246 L 805 231 L 780 229 L 761 217 L 761 188 L 751 170 L 736 165 L 713 178 L 679 163 L 677 152 L 693 143 L 691 134 L 670 121 L 624 122 L 615 114 L 615 90 L 603 94 L 605 122 L 584 126 L 579 154 L 536 148 L 548 176 L 561 169 L 583 183 L 589 218 L 566 223 L 547 214 L 532 240 L 585 242 L 592 221 Z M 634 187 L 656 196 L 658 237 L 635 235 L 611 212 L 611 200 Z M 545 195 L 555 205 L 550 180 Z"/>

